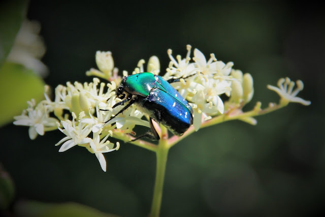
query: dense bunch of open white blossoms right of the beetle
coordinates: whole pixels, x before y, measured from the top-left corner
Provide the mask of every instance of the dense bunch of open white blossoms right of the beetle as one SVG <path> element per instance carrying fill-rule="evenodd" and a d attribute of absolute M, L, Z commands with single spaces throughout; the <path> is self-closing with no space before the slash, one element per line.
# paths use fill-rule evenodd
<path fill-rule="evenodd" d="M 234 65 L 232 62 L 224 64 L 217 60 L 213 53 L 207 61 L 198 49 L 194 49 L 191 61 L 190 51 L 191 46 L 187 45 L 186 57 L 182 59 L 177 55 L 176 60 L 172 56 L 172 50 L 168 50 L 171 62 L 164 78 L 186 78 L 186 81 L 181 79 L 174 87 L 190 102 L 193 109 L 193 125 L 199 130 L 202 121 L 224 112 L 224 104 L 219 96 L 230 96 L 232 83 L 236 79 L 231 75 Z"/>

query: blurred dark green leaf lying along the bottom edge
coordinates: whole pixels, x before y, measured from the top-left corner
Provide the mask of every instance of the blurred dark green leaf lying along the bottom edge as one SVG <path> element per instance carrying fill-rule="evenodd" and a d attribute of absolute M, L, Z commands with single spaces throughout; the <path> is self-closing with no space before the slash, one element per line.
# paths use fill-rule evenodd
<path fill-rule="evenodd" d="M 19 201 L 14 208 L 15 216 L 35 217 L 117 217 L 78 203 L 43 203 L 38 201 Z"/>

